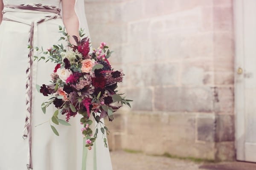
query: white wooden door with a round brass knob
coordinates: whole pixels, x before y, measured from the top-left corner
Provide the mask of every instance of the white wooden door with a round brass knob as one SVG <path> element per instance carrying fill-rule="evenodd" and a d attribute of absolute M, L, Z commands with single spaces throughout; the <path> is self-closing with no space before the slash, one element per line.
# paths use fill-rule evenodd
<path fill-rule="evenodd" d="M 256 162 L 256 0 L 234 0 L 237 160 Z"/>

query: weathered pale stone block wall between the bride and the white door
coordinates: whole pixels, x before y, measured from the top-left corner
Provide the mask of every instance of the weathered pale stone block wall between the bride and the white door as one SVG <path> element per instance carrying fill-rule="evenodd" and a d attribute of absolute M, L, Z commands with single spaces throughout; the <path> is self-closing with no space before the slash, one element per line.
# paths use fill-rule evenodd
<path fill-rule="evenodd" d="M 85 0 L 134 99 L 107 125 L 112 150 L 233 160 L 232 0 Z"/>

